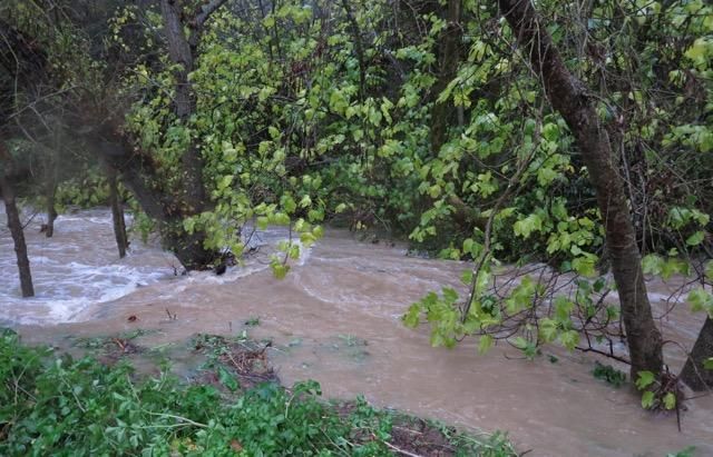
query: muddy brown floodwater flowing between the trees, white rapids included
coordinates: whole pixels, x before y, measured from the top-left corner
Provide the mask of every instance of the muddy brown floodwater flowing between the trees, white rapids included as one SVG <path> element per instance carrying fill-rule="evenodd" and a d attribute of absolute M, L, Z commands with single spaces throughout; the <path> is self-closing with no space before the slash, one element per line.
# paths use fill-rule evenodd
<path fill-rule="evenodd" d="M 283 280 L 272 276 L 264 254 L 221 277 L 182 277 L 155 240 L 134 240 L 130 256 L 118 260 L 104 209 L 60 217 L 52 239 L 38 232 L 39 223 L 27 229 L 38 297 L 22 300 L 0 220 L 0 322 L 27 342 L 144 328 L 157 331 L 141 345 L 168 347 L 196 332 L 247 329 L 275 341 L 271 359 L 285 384 L 312 378 L 329 397 L 363 394 L 377 406 L 473 431 L 507 430 L 531 456 L 664 456 L 691 445 L 695 455 L 713 456 L 713 397 L 688 401 L 678 433 L 675 416 L 646 413 L 627 388 L 595 379 L 593 357 L 548 347 L 557 362 L 529 361 L 504 345 L 480 356 L 473 342 L 431 348 L 427 328 L 404 328 L 407 307 L 430 290 L 457 286 L 465 264 L 407 257 L 399 246 L 328 230 Z M 267 250 L 283 236 L 272 230 L 253 242 Z M 675 287 L 651 281 L 652 300 L 661 302 Z M 703 317 L 684 308 L 662 326 L 665 338 L 690 346 Z M 129 322 L 130 316 L 138 319 Z M 253 318 L 258 325 L 246 326 Z M 668 359 L 677 369 L 681 355 Z"/>

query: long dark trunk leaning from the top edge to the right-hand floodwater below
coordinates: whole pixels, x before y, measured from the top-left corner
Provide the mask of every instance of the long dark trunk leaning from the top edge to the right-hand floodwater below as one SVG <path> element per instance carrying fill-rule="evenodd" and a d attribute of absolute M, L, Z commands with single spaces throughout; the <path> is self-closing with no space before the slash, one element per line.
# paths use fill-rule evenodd
<path fill-rule="evenodd" d="M 622 316 L 632 361 L 631 375 L 656 375 L 663 367 L 661 332 L 654 322 L 636 246 L 624 185 L 606 129 L 587 89 L 575 78 L 555 47 L 530 0 L 499 0 L 500 13 L 508 21 L 522 54 L 541 79 L 553 108 L 567 122 L 589 172 L 605 223 L 606 247 L 619 294 Z"/>

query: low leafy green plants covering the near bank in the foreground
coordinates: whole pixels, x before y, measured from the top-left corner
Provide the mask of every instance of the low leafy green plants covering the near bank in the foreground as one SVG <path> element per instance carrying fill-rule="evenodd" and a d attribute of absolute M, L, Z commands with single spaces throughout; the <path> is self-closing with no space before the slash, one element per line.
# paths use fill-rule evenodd
<path fill-rule="evenodd" d="M 414 435 L 399 416 L 363 399 L 353 405 L 323 401 L 315 381 L 263 383 L 225 396 L 182 384 L 165 367 L 138 377 L 126 360 L 58 357 L 23 346 L 12 331 L 0 335 L 3 456 L 389 456 L 418 445 L 399 439 Z M 437 430 L 418 424 L 416 435 Z M 439 437 L 424 455 L 515 455 L 502 436 L 463 439 L 443 429 Z"/>

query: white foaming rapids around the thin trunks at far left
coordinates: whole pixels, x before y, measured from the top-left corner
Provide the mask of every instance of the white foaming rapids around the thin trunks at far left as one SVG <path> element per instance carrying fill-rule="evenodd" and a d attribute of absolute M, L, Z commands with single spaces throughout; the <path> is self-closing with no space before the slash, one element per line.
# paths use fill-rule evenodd
<path fill-rule="evenodd" d="M 0 209 L 4 212 L 3 207 Z M 138 240 L 133 240 L 127 257 L 119 259 L 108 209 L 60 216 L 52 238 L 39 232 L 41 222 L 36 218 L 25 230 L 36 294 L 32 298 L 20 296 L 12 239 L 7 228 L 0 229 L 0 321 L 74 321 L 92 304 L 116 300 L 139 285 L 168 278 L 172 262 L 177 264 L 173 256 Z"/>

